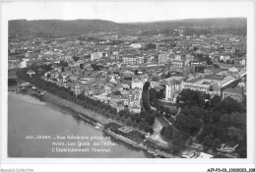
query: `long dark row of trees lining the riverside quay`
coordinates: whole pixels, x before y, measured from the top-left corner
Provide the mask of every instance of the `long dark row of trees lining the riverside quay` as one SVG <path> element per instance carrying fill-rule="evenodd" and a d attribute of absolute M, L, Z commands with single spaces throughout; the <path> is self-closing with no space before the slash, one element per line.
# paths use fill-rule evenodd
<path fill-rule="evenodd" d="M 40 68 L 40 67 L 38 67 Z M 27 74 L 29 69 L 22 69 L 17 72 L 17 77 L 24 81 L 32 83 L 32 85 L 36 87 L 40 87 L 42 89 L 48 90 L 58 96 L 75 102 L 87 109 L 95 111 L 106 118 L 110 118 L 116 120 L 122 124 L 127 126 L 131 126 L 134 128 L 138 128 L 139 130 L 146 131 L 149 133 L 154 133 L 152 129 L 152 125 L 154 124 L 156 113 L 153 110 L 149 110 L 148 112 L 142 111 L 140 114 L 132 114 L 128 109 L 121 110 L 117 113 L 117 110 L 110 105 L 103 103 L 99 100 L 95 100 L 86 96 L 84 93 L 79 95 L 75 95 L 71 88 L 67 87 L 59 87 L 54 83 L 50 83 L 44 81 L 40 78 L 39 75 L 30 75 Z"/>

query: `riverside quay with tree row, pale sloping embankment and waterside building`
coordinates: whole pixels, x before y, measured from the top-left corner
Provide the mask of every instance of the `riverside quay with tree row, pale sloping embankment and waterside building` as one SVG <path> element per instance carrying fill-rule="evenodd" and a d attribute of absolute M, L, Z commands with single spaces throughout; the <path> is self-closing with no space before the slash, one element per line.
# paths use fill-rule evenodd
<path fill-rule="evenodd" d="M 150 121 L 152 125 L 154 123 L 154 119 L 151 118 L 152 116 L 147 116 L 146 112 L 142 112 L 141 114 L 130 114 L 128 110 L 120 111 L 118 114 L 117 113 L 106 114 L 105 111 L 96 112 L 96 110 L 98 110 L 97 108 L 94 109 L 92 108 L 93 106 L 84 106 L 86 105 L 85 101 L 83 102 L 83 104 L 80 104 L 80 101 L 83 98 L 89 99 L 89 100 L 94 100 L 94 99 L 87 98 L 84 95 L 78 95 L 77 97 L 76 96 L 73 97 L 72 95 L 74 95 L 74 93 L 72 91 L 70 91 L 65 96 L 61 96 L 61 94 L 64 93 L 61 89 L 65 89 L 65 88 L 59 88 L 58 89 L 59 92 L 57 92 L 58 94 L 55 94 L 54 91 L 57 89 L 49 89 L 49 88 L 52 88 L 53 86 L 47 86 L 47 84 L 45 85 L 45 83 L 47 82 L 42 81 L 40 78 L 38 78 L 35 75 L 32 77 L 29 76 L 26 73 L 26 70 L 22 72 L 21 71 L 18 72 L 17 76 L 18 78 L 24 81 L 30 82 L 32 83 L 32 85 L 36 87 L 39 87 L 39 89 L 48 90 L 43 94 L 44 98 L 49 99 L 50 101 L 53 101 L 54 103 L 59 104 L 60 106 L 63 106 L 72 111 L 75 111 L 76 113 L 80 113 L 80 116 L 82 116 L 83 119 L 85 118 L 87 121 L 88 121 L 87 117 L 90 117 L 93 120 L 96 120 L 97 122 L 105 125 L 104 129 L 106 130 L 105 132 L 108 135 L 114 136 L 115 138 L 123 142 L 126 142 L 128 144 L 133 144 L 136 147 L 140 147 L 146 150 L 153 150 L 154 152 L 152 153 L 157 153 L 158 155 L 163 157 L 173 157 L 173 154 L 175 155 L 177 154 L 177 150 L 175 149 L 173 150 L 172 147 L 161 148 L 160 146 L 158 146 L 158 144 L 154 144 L 154 147 L 152 147 L 152 144 L 149 144 L 150 143 L 149 141 L 145 141 L 146 143 L 144 142 L 146 132 L 154 133 L 153 129 L 150 128 L 149 125 L 147 126 L 147 122 L 146 122 L 146 121 Z M 51 90 L 51 92 L 49 90 Z M 66 98 L 69 98 L 69 100 Z M 76 98 L 78 98 L 77 101 L 76 101 Z M 91 105 L 94 105 L 94 102 Z M 106 107 L 109 108 L 109 106 L 106 106 Z M 89 108 L 92 108 L 92 109 L 90 110 Z M 110 111 L 111 110 L 114 111 L 114 109 L 110 108 Z M 143 116 L 144 118 L 142 118 L 141 116 Z M 145 120 L 145 123 L 143 122 L 144 120 Z M 133 130 L 129 133 L 124 133 L 118 130 L 121 127 L 127 127 L 127 126 L 128 127 L 130 126 Z M 175 157 L 177 156 L 178 155 L 176 155 Z"/>

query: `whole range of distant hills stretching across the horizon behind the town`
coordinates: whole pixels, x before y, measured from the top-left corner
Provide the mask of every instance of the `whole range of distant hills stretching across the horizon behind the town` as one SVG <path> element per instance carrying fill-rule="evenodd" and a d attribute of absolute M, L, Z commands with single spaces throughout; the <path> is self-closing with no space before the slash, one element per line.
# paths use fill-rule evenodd
<path fill-rule="evenodd" d="M 58 36 L 81 35 L 97 31 L 135 32 L 138 30 L 176 29 L 178 27 L 226 27 L 232 29 L 246 29 L 246 18 L 224 19 L 193 19 L 160 21 L 151 23 L 118 24 L 102 20 L 13 20 L 9 21 L 9 35 L 19 36 Z"/>

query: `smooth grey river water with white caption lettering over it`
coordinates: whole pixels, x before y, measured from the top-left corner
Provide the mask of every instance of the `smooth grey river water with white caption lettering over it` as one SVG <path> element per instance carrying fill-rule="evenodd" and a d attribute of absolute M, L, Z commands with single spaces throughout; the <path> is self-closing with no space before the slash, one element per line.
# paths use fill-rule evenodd
<path fill-rule="evenodd" d="M 67 139 L 71 136 L 84 139 Z M 75 113 L 53 102 L 14 92 L 8 92 L 8 156 L 155 157 L 142 149 L 109 137 Z"/>

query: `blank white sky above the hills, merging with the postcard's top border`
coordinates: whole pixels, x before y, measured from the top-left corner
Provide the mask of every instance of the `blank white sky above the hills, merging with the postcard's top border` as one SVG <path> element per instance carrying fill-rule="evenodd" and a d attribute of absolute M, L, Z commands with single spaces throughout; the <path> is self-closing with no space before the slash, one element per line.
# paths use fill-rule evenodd
<path fill-rule="evenodd" d="M 116 23 L 246 17 L 246 2 L 3 2 L 8 20 L 100 19 Z"/>

